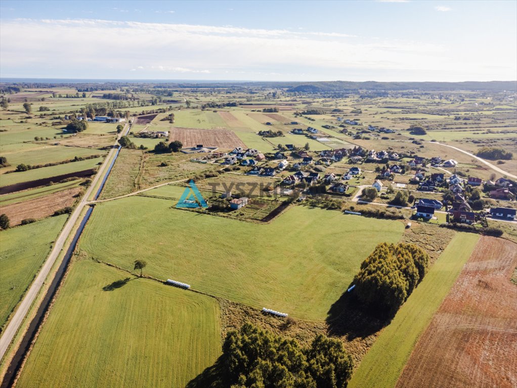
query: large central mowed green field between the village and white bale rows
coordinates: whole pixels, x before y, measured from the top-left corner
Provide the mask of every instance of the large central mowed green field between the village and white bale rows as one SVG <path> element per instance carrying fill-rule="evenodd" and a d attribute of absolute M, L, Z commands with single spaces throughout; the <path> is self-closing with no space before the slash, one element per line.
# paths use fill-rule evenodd
<path fill-rule="evenodd" d="M 403 223 L 292 207 L 270 224 L 174 209 L 170 200 L 128 197 L 98 204 L 81 239 L 90 257 L 171 278 L 193 289 L 324 320 L 379 242 Z"/>

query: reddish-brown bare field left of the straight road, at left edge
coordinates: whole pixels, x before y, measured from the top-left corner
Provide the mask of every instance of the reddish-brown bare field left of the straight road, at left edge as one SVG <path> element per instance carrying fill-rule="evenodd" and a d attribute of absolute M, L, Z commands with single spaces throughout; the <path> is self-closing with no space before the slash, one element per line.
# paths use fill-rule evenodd
<path fill-rule="evenodd" d="M 56 210 L 72 206 L 75 200 L 73 196 L 80 192 L 81 188 L 63 190 L 44 197 L 0 207 L 0 213 L 7 214 L 11 226 L 19 225 L 22 220 L 27 218 L 39 220 L 54 214 Z"/>

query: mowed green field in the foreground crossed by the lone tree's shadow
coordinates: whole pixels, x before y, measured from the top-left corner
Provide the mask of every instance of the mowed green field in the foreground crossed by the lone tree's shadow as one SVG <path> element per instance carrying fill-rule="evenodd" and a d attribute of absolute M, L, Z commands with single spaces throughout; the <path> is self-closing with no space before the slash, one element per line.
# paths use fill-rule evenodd
<path fill-rule="evenodd" d="M 17 386 L 180 388 L 217 360 L 215 299 L 128 276 L 74 262 Z"/>

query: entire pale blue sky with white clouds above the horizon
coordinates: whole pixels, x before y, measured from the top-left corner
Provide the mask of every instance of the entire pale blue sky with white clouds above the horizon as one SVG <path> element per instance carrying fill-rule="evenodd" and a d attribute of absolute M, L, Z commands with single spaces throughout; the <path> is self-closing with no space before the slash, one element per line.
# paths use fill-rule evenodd
<path fill-rule="evenodd" d="M 0 78 L 517 80 L 517 1 L 0 2 Z"/>

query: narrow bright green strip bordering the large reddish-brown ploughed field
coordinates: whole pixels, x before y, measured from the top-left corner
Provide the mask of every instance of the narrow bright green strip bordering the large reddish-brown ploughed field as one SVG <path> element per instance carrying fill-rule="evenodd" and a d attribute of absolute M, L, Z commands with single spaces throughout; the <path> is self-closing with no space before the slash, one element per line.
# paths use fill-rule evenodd
<path fill-rule="evenodd" d="M 420 335 L 445 299 L 479 236 L 459 232 L 364 356 L 349 388 L 395 386 Z M 439 351 L 438 349 L 436 351 Z"/>

